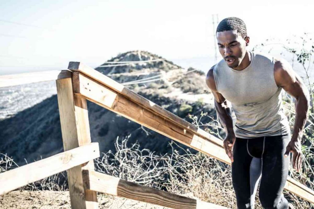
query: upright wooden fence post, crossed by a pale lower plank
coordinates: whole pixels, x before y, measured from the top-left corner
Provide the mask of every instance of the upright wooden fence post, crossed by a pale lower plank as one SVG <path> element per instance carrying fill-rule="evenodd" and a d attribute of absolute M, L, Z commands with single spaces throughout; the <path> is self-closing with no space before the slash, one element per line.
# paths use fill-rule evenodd
<path fill-rule="evenodd" d="M 73 94 L 72 78 L 56 81 L 64 151 L 91 143 L 86 99 Z M 84 170 L 94 170 L 93 161 Z M 98 208 L 97 192 L 85 190 L 82 165 L 67 170 L 71 207 Z"/>

